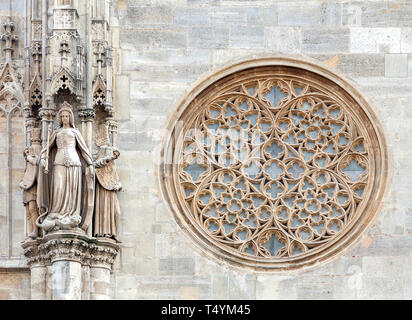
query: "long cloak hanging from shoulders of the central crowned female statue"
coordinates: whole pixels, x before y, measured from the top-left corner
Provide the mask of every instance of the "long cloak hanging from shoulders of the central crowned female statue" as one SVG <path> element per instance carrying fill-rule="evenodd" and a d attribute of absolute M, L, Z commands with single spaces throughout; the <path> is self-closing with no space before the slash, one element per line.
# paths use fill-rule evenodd
<path fill-rule="evenodd" d="M 86 231 L 91 223 L 94 208 L 94 175 L 90 172 L 90 168 L 88 167 L 89 165 L 93 165 L 93 159 L 80 132 L 76 128 L 71 129 L 76 140 L 76 152 L 81 162 L 81 186 L 79 186 L 81 188 L 81 192 L 79 193 L 81 195 L 81 222 L 79 227 Z M 65 196 L 64 193 L 53 194 L 51 190 L 53 189 L 52 179 L 54 160 L 57 153 L 56 137 L 61 130 L 62 128 L 53 131 L 50 136 L 48 173 L 46 174 L 44 172 L 45 168 L 40 166 L 38 175 L 37 204 L 39 208 L 46 209 L 48 213 L 50 213 L 53 201 L 60 200 L 52 198 Z M 47 146 L 41 151 L 41 159 L 46 158 L 46 153 Z"/>

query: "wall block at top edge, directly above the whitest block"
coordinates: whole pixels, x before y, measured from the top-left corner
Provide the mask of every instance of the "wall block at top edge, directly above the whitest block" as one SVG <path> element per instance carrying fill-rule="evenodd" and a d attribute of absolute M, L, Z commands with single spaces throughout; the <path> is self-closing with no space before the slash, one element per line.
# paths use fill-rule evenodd
<path fill-rule="evenodd" d="M 351 27 L 387 27 L 387 1 L 350 1 L 343 3 L 343 25 Z"/>

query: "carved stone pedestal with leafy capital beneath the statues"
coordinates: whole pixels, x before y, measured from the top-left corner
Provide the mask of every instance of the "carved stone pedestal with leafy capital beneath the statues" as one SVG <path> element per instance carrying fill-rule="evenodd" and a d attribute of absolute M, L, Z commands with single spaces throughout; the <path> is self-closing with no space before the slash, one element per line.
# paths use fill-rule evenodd
<path fill-rule="evenodd" d="M 31 298 L 109 299 L 110 272 L 119 252 L 111 239 L 58 231 L 22 243 L 31 270 Z"/>

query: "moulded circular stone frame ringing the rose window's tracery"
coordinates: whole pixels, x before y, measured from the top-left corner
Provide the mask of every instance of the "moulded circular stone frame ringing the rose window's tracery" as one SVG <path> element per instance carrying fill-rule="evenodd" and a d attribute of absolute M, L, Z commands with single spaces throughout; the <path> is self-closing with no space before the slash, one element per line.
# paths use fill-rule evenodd
<path fill-rule="evenodd" d="M 215 241 L 208 233 L 198 226 L 193 217 L 186 212 L 177 190 L 178 179 L 176 177 L 176 164 L 173 164 L 176 154 L 181 151 L 181 133 L 183 128 L 177 125 L 182 118 L 194 111 L 194 105 L 201 102 L 202 94 L 225 78 L 236 78 L 236 73 L 244 72 L 261 67 L 283 67 L 296 68 L 303 74 L 312 74 L 315 77 L 325 79 L 325 83 L 332 84 L 334 91 L 340 91 L 347 99 L 351 100 L 351 114 L 355 114 L 366 127 L 372 144 L 373 155 L 369 174 L 372 176 L 371 184 L 368 186 L 368 198 L 362 202 L 362 213 L 351 220 L 342 232 L 332 238 L 320 248 L 309 250 L 306 253 L 287 258 L 265 258 L 244 254 L 234 249 L 228 249 Z M 252 70 L 253 72 L 253 70 Z M 255 271 L 292 271 L 302 268 L 314 267 L 320 263 L 328 262 L 348 247 L 357 243 L 364 231 L 376 219 L 382 199 L 388 185 L 388 152 L 383 129 L 378 118 L 374 114 L 369 103 L 361 96 L 354 85 L 347 79 L 328 70 L 325 66 L 295 57 L 275 56 L 245 60 L 222 68 L 199 80 L 177 105 L 174 113 L 169 117 L 166 125 L 167 135 L 160 146 L 160 163 L 158 167 L 158 182 L 162 196 L 167 206 L 172 211 L 177 223 L 185 234 L 194 241 L 203 253 L 218 261 L 224 260 L 232 265 L 252 268 Z"/>

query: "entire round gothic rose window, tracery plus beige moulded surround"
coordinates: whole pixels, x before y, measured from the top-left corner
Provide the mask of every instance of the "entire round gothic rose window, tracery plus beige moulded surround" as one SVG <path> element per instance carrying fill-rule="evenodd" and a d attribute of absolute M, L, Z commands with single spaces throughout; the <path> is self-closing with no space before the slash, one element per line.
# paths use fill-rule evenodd
<path fill-rule="evenodd" d="M 329 259 L 365 229 L 386 149 L 348 83 L 272 61 L 210 77 L 183 100 L 161 179 L 179 223 L 207 252 L 293 269 Z"/>

